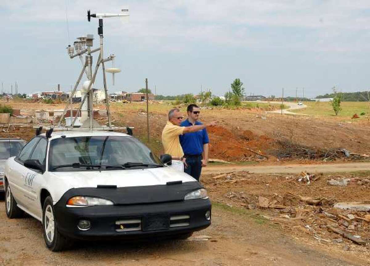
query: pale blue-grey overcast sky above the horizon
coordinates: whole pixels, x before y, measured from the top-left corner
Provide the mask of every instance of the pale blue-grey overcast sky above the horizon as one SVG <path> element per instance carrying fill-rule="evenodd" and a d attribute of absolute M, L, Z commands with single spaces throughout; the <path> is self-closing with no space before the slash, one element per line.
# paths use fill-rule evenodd
<path fill-rule="evenodd" d="M 198 93 L 201 85 L 223 95 L 235 78 L 248 94 L 265 96 L 282 88 L 295 96 L 304 87 L 313 97 L 334 85 L 343 92 L 370 87 L 369 0 L 1 0 L 0 86 L 10 91 L 17 81 L 19 92 L 36 92 L 60 83 L 69 90 L 81 65 L 65 47 L 81 35 L 98 37 L 87 9 L 118 13 L 125 6 L 129 23 L 104 20 L 105 56 L 114 53 L 122 70 L 115 86 L 108 74 L 110 92 L 137 91 L 145 78 L 163 95 Z"/>

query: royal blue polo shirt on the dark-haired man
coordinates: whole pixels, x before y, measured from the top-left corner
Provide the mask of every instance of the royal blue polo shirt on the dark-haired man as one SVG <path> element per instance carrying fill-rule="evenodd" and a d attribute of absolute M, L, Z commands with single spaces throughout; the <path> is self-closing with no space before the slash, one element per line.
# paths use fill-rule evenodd
<path fill-rule="evenodd" d="M 196 121 L 195 125 L 203 125 L 201 122 Z M 192 126 L 188 119 L 181 122 L 181 126 Z M 184 154 L 198 155 L 203 153 L 203 144 L 209 143 L 208 134 L 206 129 L 197 132 L 185 133 L 179 136 L 180 144 Z"/>

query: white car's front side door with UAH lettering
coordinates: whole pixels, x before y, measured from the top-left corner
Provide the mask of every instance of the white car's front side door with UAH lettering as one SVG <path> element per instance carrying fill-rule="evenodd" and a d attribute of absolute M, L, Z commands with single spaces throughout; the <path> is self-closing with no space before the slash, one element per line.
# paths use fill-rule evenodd
<path fill-rule="evenodd" d="M 33 149 L 30 159 L 38 160 L 40 164 L 46 166 L 46 149 L 47 149 L 47 139 L 46 137 L 41 137 L 40 141 L 36 144 Z M 26 168 L 26 167 L 25 167 Z M 43 174 L 45 171 L 26 168 L 27 173 L 24 177 L 24 184 L 27 188 L 27 198 L 28 198 L 28 209 L 30 212 L 35 214 L 37 217 L 41 218 L 41 205 L 40 205 L 40 189 L 44 181 Z"/>

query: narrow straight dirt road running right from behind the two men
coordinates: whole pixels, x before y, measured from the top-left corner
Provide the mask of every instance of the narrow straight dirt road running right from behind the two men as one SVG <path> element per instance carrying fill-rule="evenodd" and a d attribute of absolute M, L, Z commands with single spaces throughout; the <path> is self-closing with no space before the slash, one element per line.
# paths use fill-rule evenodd
<path fill-rule="evenodd" d="M 369 171 L 370 163 L 333 163 L 333 164 L 286 164 L 275 166 L 240 166 L 240 165 L 226 165 L 226 166 L 207 166 L 202 169 L 202 174 L 222 174 L 227 172 L 242 172 L 249 171 L 256 174 L 299 174 L 302 171 L 309 173 L 339 173 L 339 172 L 355 172 L 355 171 Z"/>

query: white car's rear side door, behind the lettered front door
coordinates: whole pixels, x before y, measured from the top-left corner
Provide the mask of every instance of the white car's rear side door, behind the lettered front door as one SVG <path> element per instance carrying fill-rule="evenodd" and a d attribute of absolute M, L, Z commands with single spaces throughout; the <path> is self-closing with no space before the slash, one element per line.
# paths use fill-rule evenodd
<path fill-rule="evenodd" d="M 31 153 L 40 141 L 40 137 L 34 137 L 31 139 L 26 146 L 23 147 L 19 156 L 14 158 L 14 162 L 9 166 L 9 185 L 13 193 L 13 197 L 16 199 L 17 204 L 27 206 L 27 190 L 25 185 L 25 178 L 27 174 L 27 168 L 24 167 L 23 163 L 30 158 Z"/>

